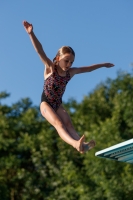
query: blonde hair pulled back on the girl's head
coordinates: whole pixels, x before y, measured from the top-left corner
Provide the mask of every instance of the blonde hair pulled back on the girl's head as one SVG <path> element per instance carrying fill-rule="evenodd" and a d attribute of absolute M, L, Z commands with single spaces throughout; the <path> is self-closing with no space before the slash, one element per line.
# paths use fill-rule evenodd
<path fill-rule="evenodd" d="M 71 53 L 75 57 L 75 52 L 74 52 L 74 50 L 71 47 L 69 47 L 69 46 L 62 46 L 58 50 L 55 58 L 53 59 L 54 64 L 57 64 L 57 60 L 56 60 L 57 56 L 61 56 L 61 55 L 64 55 L 66 53 Z"/>

